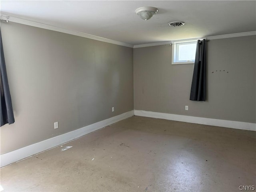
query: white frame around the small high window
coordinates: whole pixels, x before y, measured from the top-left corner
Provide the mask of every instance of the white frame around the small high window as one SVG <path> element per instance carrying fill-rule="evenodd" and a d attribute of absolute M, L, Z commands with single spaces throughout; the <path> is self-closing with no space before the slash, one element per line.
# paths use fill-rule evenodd
<path fill-rule="evenodd" d="M 182 61 L 180 61 L 180 62 L 177 62 L 177 61 L 176 61 L 176 56 L 178 55 L 177 52 L 179 52 L 179 49 L 177 50 L 177 47 L 178 47 L 179 45 L 182 45 L 182 44 L 183 44 L 183 45 L 184 45 L 184 44 L 197 44 L 197 40 L 173 42 L 173 43 L 172 43 L 172 65 L 177 65 L 177 64 L 194 64 L 195 61 L 193 61 L 193 60 L 187 60 L 187 61 L 182 60 Z M 196 53 L 195 53 L 195 54 L 196 54 Z M 174 58 L 174 55 L 176 55 L 175 58 Z M 174 61 L 174 60 L 175 60 L 175 61 Z"/>

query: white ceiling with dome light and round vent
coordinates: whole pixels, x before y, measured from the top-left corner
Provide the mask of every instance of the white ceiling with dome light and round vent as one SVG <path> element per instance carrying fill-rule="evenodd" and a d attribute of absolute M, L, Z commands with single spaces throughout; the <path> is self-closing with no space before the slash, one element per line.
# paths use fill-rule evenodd
<path fill-rule="evenodd" d="M 136 8 L 153 6 L 150 20 Z M 256 31 L 256 1 L 4 1 L 1 14 L 138 45 Z M 171 21 L 184 21 L 171 28 Z"/>

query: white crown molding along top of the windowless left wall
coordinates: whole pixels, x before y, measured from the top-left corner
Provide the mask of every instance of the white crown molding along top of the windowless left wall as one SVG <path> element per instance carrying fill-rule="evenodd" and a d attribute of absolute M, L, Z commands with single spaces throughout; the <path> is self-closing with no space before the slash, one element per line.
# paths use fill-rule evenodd
<path fill-rule="evenodd" d="M 107 38 L 103 38 L 103 37 L 99 37 L 99 36 L 95 36 L 95 35 L 90 35 L 90 34 L 86 34 L 86 33 L 82 33 L 82 32 L 67 30 L 64 28 L 60 28 L 60 27 L 56 27 L 56 26 L 52 26 L 52 25 L 48 25 L 48 24 L 43 24 L 40 22 L 34 22 L 31 20 L 18 18 L 16 16 L 7 15 L 4 13 L 1 13 L 1 17 L 8 17 L 9 21 L 19 23 L 19 24 L 29 25 L 29 26 L 53 30 L 53 31 L 58 31 L 58 32 L 66 33 L 66 34 L 76 35 L 76 36 L 85 37 L 85 38 L 89 38 L 89 39 L 93 39 L 93 40 L 98 40 L 98 41 L 102 41 L 102 42 L 107 42 L 107 43 L 111 43 L 111 44 L 116 44 L 116 45 L 133 48 L 133 45 L 131 45 L 131 44 L 127 44 L 127 43 L 123 43 L 123 42 L 119 42 L 119 41 L 115 41 L 115 40 L 111 40 L 111 39 L 107 39 Z"/>

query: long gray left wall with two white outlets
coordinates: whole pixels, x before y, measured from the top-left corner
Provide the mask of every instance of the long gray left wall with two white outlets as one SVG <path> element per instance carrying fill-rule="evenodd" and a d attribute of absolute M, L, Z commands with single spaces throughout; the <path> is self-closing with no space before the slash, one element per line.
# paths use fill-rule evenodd
<path fill-rule="evenodd" d="M 132 48 L 13 22 L 1 31 L 16 121 L 1 127 L 1 154 L 133 110 Z"/>

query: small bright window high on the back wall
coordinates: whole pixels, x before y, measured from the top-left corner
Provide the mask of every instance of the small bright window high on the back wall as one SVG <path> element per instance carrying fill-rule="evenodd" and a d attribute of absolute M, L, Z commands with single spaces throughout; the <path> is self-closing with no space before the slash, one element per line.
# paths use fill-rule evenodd
<path fill-rule="evenodd" d="M 176 42 L 172 44 L 172 64 L 189 64 L 195 62 L 196 44 L 193 42 Z"/>

